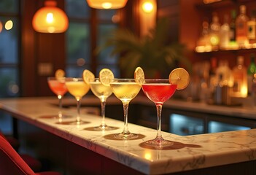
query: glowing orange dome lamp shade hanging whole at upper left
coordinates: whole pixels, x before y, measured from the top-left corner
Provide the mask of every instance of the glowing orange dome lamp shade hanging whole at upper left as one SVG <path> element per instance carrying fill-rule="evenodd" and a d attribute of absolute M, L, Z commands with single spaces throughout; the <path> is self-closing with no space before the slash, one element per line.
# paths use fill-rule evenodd
<path fill-rule="evenodd" d="M 56 7 L 56 1 L 45 1 L 32 21 L 35 31 L 41 33 L 62 33 L 69 27 L 69 19 L 62 9 Z"/>

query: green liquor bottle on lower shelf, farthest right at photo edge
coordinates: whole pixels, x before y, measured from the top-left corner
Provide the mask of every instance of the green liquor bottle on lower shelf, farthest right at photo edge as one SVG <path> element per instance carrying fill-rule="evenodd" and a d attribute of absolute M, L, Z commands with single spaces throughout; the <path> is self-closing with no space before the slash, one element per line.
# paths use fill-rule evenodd
<path fill-rule="evenodd" d="M 252 93 L 252 82 L 254 78 L 254 74 L 256 73 L 256 65 L 255 65 L 255 54 L 252 53 L 250 55 L 251 63 L 247 69 L 247 83 L 248 83 L 248 95 L 250 96 Z"/>

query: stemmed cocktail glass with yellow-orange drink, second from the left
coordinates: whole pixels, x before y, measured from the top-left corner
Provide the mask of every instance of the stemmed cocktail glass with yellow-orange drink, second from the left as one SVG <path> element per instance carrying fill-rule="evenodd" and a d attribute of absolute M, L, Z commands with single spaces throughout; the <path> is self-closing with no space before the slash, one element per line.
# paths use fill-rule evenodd
<path fill-rule="evenodd" d="M 86 84 L 82 78 L 66 78 L 66 88 L 69 93 L 77 100 L 77 120 L 76 124 L 82 124 L 80 119 L 80 106 L 82 97 L 90 90 L 90 85 Z"/>

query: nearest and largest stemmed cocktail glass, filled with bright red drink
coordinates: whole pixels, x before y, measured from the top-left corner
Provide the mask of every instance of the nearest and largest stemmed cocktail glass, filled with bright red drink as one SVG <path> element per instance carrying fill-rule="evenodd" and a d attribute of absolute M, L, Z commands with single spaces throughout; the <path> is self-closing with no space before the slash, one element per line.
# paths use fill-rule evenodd
<path fill-rule="evenodd" d="M 161 134 L 161 113 L 162 106 L 171 96 L 174 95 L 177 85 L 171 85 L 169 79 L 144 79 L 142 90 L 145 95 L 155 103 L 158 115 L 158 133 L 155 139 L 145 141 L 144 144 L 150 147 L 170 147 L 173 141 L 163 139 Z"/>

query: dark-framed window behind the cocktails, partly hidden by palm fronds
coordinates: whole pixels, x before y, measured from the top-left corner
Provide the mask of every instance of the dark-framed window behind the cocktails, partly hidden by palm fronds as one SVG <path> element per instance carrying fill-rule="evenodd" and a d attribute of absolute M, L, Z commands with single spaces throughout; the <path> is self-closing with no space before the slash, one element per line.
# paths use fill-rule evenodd
<path fill-rule="evenodd" d="M 111 49 L 93 55 L 93 50 L 104 43 L 104 36 L 117 28 L 117 24 L 112 22 L 117 10 L 90 9 L 85 0 L 66 0 L 66 12 L 69 17 L 66 74 L 81 77 L 82 71 L 89 69 L 97 77 L 101 69 L 109 68 L 118 76 L 117 58 L 109 55 Z"/>

